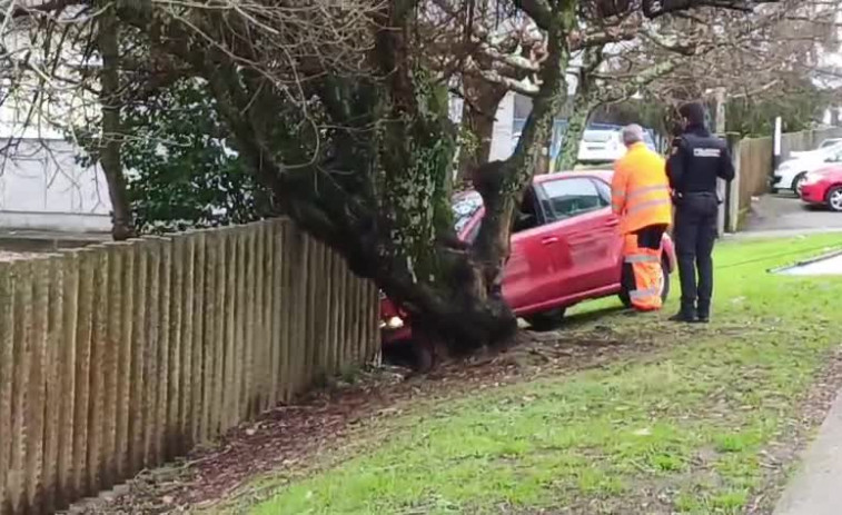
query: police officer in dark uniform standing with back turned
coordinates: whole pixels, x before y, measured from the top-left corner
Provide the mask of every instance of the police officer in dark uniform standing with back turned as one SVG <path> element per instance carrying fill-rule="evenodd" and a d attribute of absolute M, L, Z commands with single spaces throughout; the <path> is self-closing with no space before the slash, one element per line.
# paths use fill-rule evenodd
<path fill-rule="evenodd" d="M 711 135 L 705 127 L 701 103 L 685 103 L 678 113 L 684 132 L 673 140 L 666 164 L 675 201 L 674 237 L 682 293 L 681 310 L 672 319 L 706 323 L 711 316 L 711 254 L 720 206 L 716 179 L 732 180 L 734 165 L 725 141 Z"/>

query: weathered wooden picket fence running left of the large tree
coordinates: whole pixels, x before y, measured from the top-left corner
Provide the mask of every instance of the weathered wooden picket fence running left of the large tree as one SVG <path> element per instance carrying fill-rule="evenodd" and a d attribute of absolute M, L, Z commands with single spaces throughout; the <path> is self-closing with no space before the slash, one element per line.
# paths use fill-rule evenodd
<path fill-rule="evenodd" d="M 288 220 L 0 263 L 0 514 L 51 513 L 373 359 L 377 315 Z"/>

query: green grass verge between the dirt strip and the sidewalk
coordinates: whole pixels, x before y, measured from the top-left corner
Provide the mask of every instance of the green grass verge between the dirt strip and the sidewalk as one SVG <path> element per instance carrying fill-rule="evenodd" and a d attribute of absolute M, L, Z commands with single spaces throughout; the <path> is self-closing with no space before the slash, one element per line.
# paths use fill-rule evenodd
<path fill-rule="evenodd" d="M 645 331 L 661 350 L 419 407 L 385 423 L 388 437 L 365 453 L 290 481 L 251 513 L 742 513 L 762 479 L 760 452 L 839 345 L 842 280 L 766 269 L 840 245 L 722 244 L 710 327 L 665 321 L 675 300 L 658 315 L 585 323 Z"/>

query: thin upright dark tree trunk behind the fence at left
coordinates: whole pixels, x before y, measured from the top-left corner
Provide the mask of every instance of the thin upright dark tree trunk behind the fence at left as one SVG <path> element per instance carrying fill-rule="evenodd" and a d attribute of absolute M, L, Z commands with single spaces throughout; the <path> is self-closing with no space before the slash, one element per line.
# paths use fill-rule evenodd
<path fill-rule="evenodd" d="M 103 2 L 106 6 L 108 2 Z M 99 17 L 97 48 L 102 57 L 100 72 L 100 103 L 102 106 L 102 139 L 99 164 L 106 175 L 108 194 L 111 199 L 111 236 L 125 240 L 136 235 L 131 216 L 126 178 L 122 174 L 122 130 L 120 123 L 120 48 L 119 26 L 113 8 L 106 7 Z"/>

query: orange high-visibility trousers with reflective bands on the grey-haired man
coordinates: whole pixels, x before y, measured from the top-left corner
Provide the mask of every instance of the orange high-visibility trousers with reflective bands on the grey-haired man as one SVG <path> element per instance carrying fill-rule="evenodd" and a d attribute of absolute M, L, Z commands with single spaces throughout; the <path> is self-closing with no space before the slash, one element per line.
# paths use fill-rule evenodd
<path fill-rule="evenodd" d="M 640 311 L 654 311 L 663 307 L 661 291 L 664 273 L 661 268 L 661 250 L 638 246 L 638 237 L 631 232 L 623 242 L 624 267 L 632 268 L 634 288 L 630 288 L 628 299 Z M 631 284 L 631 281 L 630 281 Z"/>

